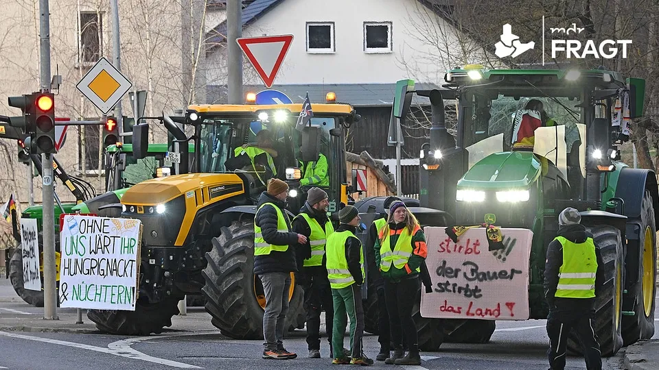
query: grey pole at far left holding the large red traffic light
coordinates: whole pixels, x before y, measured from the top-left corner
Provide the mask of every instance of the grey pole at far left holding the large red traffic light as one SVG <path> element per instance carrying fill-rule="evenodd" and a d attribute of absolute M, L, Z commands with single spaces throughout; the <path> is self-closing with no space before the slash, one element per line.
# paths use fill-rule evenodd
<path fill-rule="evenodd" d="M 50 10 L 48 0 L 39 0 L 39 38 L 41 53 L 40 84 L 42 92 L 50 91 Z M 53 155 L 41 154 L 43 201 L 43 318 L 57 320 L 55 282 L 55 204 L 53 187 Z M 32 166 L 30 166 L 32 167 Z M 32 176 L 32 174 L 30 174 Z"/>

